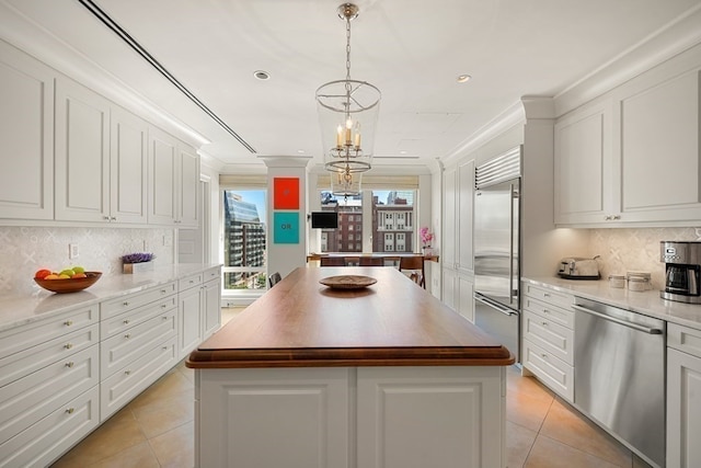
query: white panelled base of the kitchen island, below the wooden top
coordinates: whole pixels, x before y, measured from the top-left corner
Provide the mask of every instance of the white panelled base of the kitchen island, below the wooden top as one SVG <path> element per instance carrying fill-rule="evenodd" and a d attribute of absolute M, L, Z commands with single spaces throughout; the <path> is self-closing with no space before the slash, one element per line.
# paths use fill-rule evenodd
<path fill-rule="evenodd" d="M 506 466 L 504 367 L 196 369 L 198 467 Z"/>

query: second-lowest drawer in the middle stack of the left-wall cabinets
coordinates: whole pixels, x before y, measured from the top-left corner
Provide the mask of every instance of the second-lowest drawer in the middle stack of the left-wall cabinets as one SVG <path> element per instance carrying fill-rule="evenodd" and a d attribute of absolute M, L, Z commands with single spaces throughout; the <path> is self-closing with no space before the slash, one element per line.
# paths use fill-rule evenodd
<path fill-rule="evenodd" d="M 102 378 L 104 379 L 128 365 L 152 349 L 156 343 L 175 336 L 177 333 L 176 312 L 177 310 L 172 308 L 100 343 Z"/>

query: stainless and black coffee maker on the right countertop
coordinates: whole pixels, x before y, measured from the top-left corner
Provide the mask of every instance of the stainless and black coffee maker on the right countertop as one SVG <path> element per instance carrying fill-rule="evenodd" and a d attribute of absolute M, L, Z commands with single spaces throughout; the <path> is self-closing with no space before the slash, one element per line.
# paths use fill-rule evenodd
<path fill-rule="evenodd" d="M 659 260 L 666 265 L 665 288 L 659 296 L 679 303 L 701 304 L 701 242 L 662 241 Z"/>

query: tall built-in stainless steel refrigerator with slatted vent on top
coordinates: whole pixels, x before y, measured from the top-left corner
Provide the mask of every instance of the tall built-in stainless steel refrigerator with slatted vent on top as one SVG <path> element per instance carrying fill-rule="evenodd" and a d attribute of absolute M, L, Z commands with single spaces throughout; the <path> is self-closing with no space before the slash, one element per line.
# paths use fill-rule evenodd
<path fill-rule="evenodd" d="M 475 324 L 520 362 L 520 161 L 513 150 L 475 169 Z"/>

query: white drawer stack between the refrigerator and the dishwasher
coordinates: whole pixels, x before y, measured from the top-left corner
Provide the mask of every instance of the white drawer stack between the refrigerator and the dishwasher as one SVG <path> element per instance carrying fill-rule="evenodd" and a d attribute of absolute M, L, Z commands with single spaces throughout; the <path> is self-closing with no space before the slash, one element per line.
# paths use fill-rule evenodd
<path fill-rule="evenodd" d="M 574 296 L 524 283 L 521 364 L 553 391 L 574 401 Z"/>

